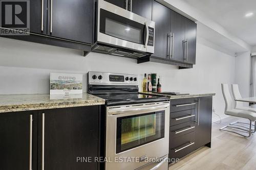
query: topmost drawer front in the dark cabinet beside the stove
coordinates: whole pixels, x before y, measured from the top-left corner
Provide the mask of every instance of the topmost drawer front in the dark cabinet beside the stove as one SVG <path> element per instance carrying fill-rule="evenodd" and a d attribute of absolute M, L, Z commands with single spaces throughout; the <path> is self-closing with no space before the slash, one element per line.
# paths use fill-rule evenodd
<path fill-rule="evenodd" d="M 197 99 L 178 99 L 170 101 L 170 112 L 178 112 L 188 109 L 195 109 L 197 106 Z"/>

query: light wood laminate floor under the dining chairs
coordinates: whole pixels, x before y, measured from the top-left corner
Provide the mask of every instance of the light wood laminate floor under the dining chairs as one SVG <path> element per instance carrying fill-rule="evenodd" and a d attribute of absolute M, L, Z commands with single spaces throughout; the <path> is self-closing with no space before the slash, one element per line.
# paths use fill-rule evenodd
<path fill-rule="evenodd" d="M 211 148 L 201 148 L 169 167 L 169 170 L 256 170 L 256 133 L 249 138 L 219 129 L 231 122 L 247 119 L 227 117 L 220 125 L 212 123 Z"/>

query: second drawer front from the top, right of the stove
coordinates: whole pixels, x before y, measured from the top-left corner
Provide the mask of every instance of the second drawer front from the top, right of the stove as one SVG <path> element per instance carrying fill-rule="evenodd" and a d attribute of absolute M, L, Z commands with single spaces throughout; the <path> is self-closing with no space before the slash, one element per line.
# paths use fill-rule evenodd
<path fill-rule="evenodd" d="M 170 113 L 170 126 L 182 124 L 189 121 L 195 121 L 196 109 Z"/>

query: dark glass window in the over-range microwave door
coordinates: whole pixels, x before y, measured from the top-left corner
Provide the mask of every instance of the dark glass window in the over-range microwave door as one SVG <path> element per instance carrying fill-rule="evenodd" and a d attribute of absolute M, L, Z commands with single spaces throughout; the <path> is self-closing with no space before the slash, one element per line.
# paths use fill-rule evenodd
<path fill-rule="evenodd" d="M 145 25 L 119 16 L 117 14 L 100 10 L 100 32 L 119 39 L 144 44 Z"/>

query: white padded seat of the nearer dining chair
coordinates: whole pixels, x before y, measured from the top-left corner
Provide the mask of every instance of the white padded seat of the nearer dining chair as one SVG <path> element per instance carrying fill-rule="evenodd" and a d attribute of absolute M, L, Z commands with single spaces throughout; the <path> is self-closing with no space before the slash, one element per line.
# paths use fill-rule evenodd
<path fill-rule="evenodd" d="M 245 111 L 245 110 L 232 109 L 232 110 L 225 111 L 225 114 L 236 116 L 236 117 L 248 118 L 252 122 L 256 120 L 256 113 Z"/>

